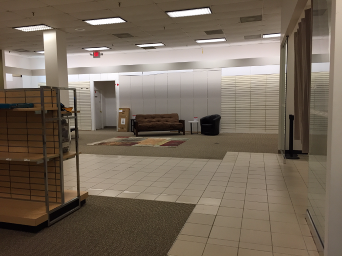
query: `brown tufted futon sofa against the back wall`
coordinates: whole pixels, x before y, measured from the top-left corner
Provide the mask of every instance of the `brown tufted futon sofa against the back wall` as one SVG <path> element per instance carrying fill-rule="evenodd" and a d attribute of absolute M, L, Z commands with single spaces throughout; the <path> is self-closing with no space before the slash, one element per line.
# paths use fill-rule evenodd
<path fill-rule="evenodd" d="M 136 115 L 134 133 L 139 132 L 178 131 L 185 135 L 185 121 L 179 120 L 178 114 Z"/>

